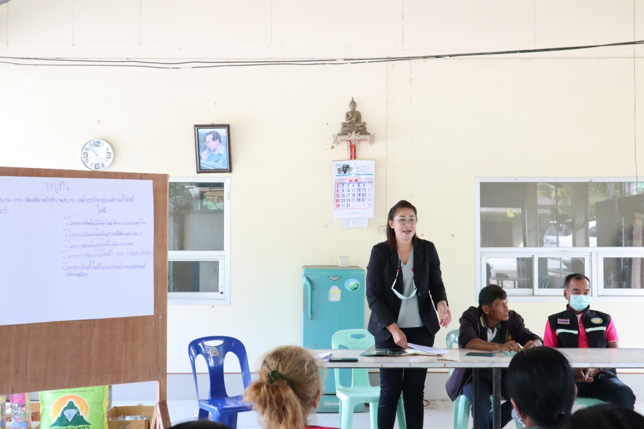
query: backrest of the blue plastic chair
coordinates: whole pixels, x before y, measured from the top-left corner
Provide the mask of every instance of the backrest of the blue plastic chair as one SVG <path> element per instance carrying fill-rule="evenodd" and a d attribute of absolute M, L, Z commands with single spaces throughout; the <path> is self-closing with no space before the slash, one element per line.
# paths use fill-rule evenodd
<path fill-rule="evenodd" d="M 207 345 L 206 342 L 221 341 L 220 345 Z M 251 384 L 251 370 L 248 367 L 248 357 L 246 348 L 240 340 L 231 336 L 204 336 L 193 340 L 188 345 L 188 356 L 190 365 L 193 367 L 194 389 L 199 397 L 199 387 L 197 385 L 197 372 L 194 367 L 194 361 L 197 356 L 204 356 L 205 363 L 208 366 L 208 375 L 210 376 L 209 399 L 214 397 L 226 397 L 226 386 L 223 380 L 223 360 L 227 353 L 237 356 L 242 369 L 243 388 L 246 389 Z"/>

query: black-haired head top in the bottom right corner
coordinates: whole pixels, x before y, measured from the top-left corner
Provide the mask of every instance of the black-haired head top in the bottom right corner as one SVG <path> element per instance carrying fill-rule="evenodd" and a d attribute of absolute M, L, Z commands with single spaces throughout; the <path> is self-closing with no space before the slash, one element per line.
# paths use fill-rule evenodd
<path fill-rule="evenodd" d="M 566 429 L 636 429 L 644 428 L 641 414 L 616 404 L 593 405 L 570 418 Z"/>

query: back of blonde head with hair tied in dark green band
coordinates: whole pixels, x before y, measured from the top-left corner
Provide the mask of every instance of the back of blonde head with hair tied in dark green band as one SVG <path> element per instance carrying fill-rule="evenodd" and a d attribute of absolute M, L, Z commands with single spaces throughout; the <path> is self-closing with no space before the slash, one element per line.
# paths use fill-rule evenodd
<path fill-rule="evenodd" d="M 302 347 L 284 345 L 269 352 L 261 363 L 260 379 L 246 389 L 267 429 L 302 429 L 320 393 L 317 362 Z"/>

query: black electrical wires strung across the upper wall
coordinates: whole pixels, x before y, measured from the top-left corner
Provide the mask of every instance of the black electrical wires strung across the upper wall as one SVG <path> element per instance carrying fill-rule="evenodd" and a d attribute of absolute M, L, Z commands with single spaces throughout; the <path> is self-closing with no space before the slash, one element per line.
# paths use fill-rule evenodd
<path fill-rule="evenodd" d="M 218 67 L 249 66 L 341 66 L 345 64 L 374 64 L 379 62 L 396 62 L 411 60 L 433 60 L 459 57 L 481 57 L 488 55 L 512 55 L 522 53 L 540 53 L 556 51 L 573 51 L 608 46 L 629 46 L 644 44 L 644 41 L 595 44 L 585 46 L 564 46 L 560 48 L 526 49 L 512 51 L 451 53 L 441 55 L 415 55 L 412 57 L 379 57 L 379 58 L 346 58 L 346 59 L 290 59 L 290 60 L 191 60 L 191 61 L 149 61 L 149 60 L 98 60 L 98 59 L 64 59 L 46 57 L 0 57 L 0 63 L 17 66 L 93 66 L 93 67 L 139 67 L 156 69 L 200 69 Z"/>

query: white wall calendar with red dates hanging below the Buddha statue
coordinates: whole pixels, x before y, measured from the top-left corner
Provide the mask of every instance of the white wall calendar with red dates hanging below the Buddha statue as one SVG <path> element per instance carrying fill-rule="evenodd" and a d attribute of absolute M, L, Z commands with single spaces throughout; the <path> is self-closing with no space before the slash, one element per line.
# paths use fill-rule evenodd
<path fill-rule="evenodd" d="M 375 161 L 333 161 L 333 218 L 374 217 Z"/>

